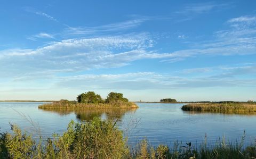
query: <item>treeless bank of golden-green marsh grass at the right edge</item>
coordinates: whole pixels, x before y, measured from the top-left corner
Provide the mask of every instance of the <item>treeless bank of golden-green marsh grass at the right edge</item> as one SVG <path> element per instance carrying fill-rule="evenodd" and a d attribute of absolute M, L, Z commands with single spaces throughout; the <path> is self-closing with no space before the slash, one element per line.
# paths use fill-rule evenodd
<path fill-rule="evenodd" d="M 183 111 L 220 112 L 220 113 L 255 113 L 256 104 L 249 103 L 193 103 L 183 105 Z"/>

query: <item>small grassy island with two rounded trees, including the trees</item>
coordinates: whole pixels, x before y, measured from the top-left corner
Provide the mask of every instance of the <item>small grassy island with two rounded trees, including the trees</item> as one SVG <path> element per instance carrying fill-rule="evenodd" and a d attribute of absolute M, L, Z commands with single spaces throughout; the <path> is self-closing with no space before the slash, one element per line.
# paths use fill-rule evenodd
<path fill-rule="evenodd" d="M 39 105 L 42 109 L 103 109 L 103 108 L 138 108 L 134 102 L 129 102 L 123 97 L 122 93 L 110 92 L 106 99 L 102 99 L 100 95 L 94 91 L 88 91 L 77 96 L 77 101 L 68 101 L 62 99 L 58 102 Z"/>

